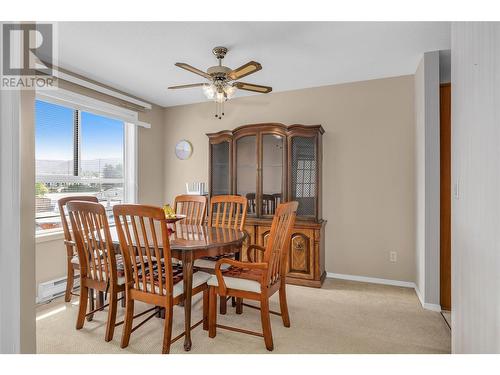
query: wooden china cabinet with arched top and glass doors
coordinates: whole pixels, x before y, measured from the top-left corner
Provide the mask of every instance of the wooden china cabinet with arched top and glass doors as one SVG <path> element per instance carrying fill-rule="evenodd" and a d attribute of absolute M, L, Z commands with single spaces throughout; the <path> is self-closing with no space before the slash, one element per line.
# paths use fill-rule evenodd
<path fill-rule="evenodd" d="M 207 134 L 209 197 L 236 194 L 248 199 L 250 243 L 265 246 L 280 202 L 299 202 L 290 242 L 287 283 L 321 287 L 325 279 L 321 216 L 320 125 L 255 124 Z"/>

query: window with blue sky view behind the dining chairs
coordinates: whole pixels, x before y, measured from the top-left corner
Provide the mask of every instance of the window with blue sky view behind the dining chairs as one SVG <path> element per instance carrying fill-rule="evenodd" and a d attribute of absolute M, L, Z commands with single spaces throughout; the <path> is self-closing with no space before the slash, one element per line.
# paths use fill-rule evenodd
<path fill-rule="evenodd" d="M 96 111 L 102 113 L 102 111 Z M 36 234 L 61 231 L 57 201 L 97 197 L 113 222 L 112 207 L 134 200 L 135 137 L 121 119 L 37 99 L 35 102 Z"/>

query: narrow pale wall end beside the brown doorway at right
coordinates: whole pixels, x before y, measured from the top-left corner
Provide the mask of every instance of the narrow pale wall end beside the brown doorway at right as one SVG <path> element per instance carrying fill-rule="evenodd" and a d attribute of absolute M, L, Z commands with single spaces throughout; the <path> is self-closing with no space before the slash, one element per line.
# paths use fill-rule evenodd
<path fill-rule="evenodd" d="M 415 73 L 416 277 L 423 305 L 440 299 L 439 51 L 424 53 Z"/>

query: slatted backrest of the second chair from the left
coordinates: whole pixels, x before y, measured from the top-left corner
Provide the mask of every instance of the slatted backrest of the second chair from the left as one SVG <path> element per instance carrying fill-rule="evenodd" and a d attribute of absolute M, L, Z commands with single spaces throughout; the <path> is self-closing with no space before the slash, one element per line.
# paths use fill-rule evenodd
<path fill-rule="evenodd" d="M 116 283 L 116 257 L 104 206 L 95 202 L 69 201 L 66 207 L 78 251 L 80 275 Z"/>

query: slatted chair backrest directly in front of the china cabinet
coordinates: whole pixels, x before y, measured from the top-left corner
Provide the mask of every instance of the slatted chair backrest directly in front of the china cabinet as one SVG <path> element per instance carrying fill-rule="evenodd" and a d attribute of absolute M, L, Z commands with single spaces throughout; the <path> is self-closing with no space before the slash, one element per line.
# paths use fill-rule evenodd
<path fill-rule="evenodd" d="M 213 196 L 210 198 L 208 225 L 219 228 L 244 230 L 247 209 L 247 199 L 239 195 Z"/>

